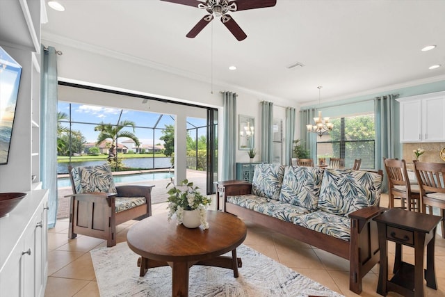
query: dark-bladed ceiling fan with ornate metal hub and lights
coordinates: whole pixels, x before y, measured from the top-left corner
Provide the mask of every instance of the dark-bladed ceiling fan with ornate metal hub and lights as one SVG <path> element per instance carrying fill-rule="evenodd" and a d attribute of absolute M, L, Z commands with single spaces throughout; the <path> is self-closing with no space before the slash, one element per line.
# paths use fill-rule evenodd
<path fill-rule="evenodd" d="M 177 4 L 183 4 L 201 8 L 207 10 L 209 15 L 205 15 L 200 22 L 187 33 L 188 38 L 195 38 L 198 33 L 204 29 L 207 24 L 211 22 L 213 17 L 221 17 L 221 22 L 229 29 L 229 31 L 235 36 L 238 41 L 244 40 L 248 35 L 245 35 L 243 29 L 241 29 L 235 20 L 230 16 L 229 11 L 248 10 L 254 8 L 264 8 L 275 6 L 277 0 L 207 0 L 205 2 L 198 0 L 161 0 L 165 2 L 172 2 Z"/>

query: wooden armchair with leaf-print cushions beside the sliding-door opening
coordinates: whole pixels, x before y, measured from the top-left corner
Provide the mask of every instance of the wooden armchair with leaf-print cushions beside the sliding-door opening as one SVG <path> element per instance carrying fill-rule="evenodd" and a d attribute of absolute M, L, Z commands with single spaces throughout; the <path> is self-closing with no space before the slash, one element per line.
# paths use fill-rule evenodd
<path fill-rule="evenodd" d="M 68 167 L 72 185 L 68 237 L 77 234 L 116 244 L 116 226 L 152 215 L 153 186 L 115 186 L 107 164 Z"/>

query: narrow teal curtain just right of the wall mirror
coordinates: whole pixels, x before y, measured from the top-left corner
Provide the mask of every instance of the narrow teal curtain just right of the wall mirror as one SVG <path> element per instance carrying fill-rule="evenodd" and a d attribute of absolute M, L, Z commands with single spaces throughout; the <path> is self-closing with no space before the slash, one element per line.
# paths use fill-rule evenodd
<path fill-rule="evenodd" d="M 273 154 L 273 103 L 261 102 L 261 161 L 272 162 Z"/>

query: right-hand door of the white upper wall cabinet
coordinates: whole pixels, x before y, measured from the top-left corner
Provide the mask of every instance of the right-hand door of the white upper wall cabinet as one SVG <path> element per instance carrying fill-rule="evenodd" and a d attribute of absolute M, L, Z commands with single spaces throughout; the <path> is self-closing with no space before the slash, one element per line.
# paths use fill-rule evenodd
<path fill-rule="evenodd" d="M 423 100 L 423 141 L 445 140 L 445 97 Z"/>

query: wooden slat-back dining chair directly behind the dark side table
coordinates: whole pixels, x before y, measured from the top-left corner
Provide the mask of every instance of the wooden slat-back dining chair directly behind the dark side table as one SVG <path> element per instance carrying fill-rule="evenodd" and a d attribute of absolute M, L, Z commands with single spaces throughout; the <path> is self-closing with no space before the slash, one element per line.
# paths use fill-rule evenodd
<path fill-rule="evenodd" d="M 383 158 L 383 161 L 388 179 L 389 208 L 394 208 L 394 199 L 400 198 L 402 209 L 420 212 L 420 188 L 418 184 L 410 184 L 405 160 Z"/>

